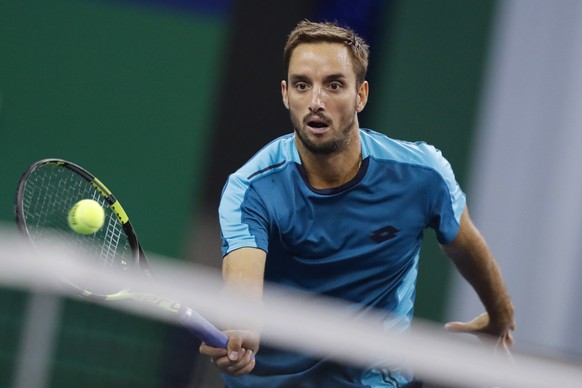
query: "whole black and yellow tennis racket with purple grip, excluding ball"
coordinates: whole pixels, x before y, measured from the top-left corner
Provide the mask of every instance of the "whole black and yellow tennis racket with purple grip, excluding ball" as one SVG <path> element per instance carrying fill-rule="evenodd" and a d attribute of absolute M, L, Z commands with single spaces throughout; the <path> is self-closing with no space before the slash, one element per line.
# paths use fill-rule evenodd
<path fill-rule="evenodd" d="M 75 233 L 69 210 L 82 199 L 97 201 L 105 211 L 103 227 L 93 234 Z M 58 242 L 80 250 L 83 260 L 113 271 L 137 271 L 151 277 L 146 255 L 127 213 L 111 191 L 93 174 L 61 159 L 33 163 L 22 175 L 14 203 L 16 223 L 33 243 Z M 163 309 L 206 344 L 226 348 L 228 337 L 196 311 L 178 301 L 145 292 L 104 286 L 87 289 L 74 279 L 60 279 L 75 294 L 101 303 L 147 303 Z"/>

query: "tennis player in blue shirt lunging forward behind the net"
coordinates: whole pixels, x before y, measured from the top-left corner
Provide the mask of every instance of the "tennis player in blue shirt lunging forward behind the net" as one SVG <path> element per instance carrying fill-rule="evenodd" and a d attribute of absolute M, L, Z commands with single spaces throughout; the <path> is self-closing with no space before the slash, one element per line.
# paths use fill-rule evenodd
<path fill-rule="evenodd" d="M 368 46 L 353 31 L 303 21 L 284 50 L 283 104 L 295 132 L 232 174 L 220 223 L 226 287 L 260 300 L 264 280 L 412 319 L 424 229 L 474 287 L 487 313 L 453 331 L 510 346 L 513 305 L 473 226 L 449 163 L 425 143 L 360 129 L 368 101 Z M 229 387 L 420 386 L 405 368 L 360 370 L 261 346 L 258 330 L 231 330 L 228 349 L 203 344 Z"/>

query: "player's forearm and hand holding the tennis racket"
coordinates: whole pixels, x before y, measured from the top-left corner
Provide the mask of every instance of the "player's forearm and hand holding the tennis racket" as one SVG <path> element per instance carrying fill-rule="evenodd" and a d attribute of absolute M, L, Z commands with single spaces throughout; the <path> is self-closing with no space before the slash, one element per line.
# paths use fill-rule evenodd
<path fill-rule="evenodd" d="M 267 254 L 256 248 L 241 248 L 226 255 L 222 263 L 225 292 L 259 303 L 263 296 L 266 258 Z M 227 330 L 225 334 L 229 337 L 228 349 L 203 343 L 200 353 L 210 356 L 223 373 L 240 376 L 252 371 L 254 354 L 259 350 L 260 329 Z"/>

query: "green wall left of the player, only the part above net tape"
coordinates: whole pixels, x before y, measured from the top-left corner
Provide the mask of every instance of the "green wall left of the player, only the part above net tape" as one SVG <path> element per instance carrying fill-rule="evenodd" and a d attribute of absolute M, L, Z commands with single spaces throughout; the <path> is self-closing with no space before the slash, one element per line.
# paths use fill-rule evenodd
<path fill-rule="evenodd" d="M 147 249 L 181 254 L 225 23 L 115 2 L 0 4 L 0 217 L 28 164 L 61 157 L 123 198 Z"/>

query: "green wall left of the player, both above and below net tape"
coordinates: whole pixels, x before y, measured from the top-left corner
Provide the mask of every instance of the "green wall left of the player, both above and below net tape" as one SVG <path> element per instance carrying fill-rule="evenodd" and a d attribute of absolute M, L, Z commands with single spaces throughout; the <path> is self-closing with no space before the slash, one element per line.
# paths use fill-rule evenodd
<path fill-rule="evenodd" d="M 0 218 L 12 225 L 24 169 L 60 157 L 108 185 L 147 250 L 181 257 L 227 32 L 223 19 L 165 8 L 0 2 Z M 0 293 L 1 387 L 26 301 Z M 161 385 L 164 325 L 72 301 L 61 319 L 50 386 Z"/>

